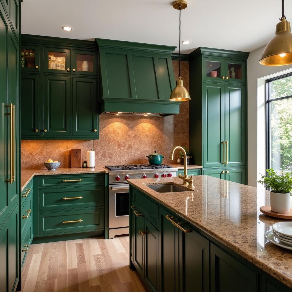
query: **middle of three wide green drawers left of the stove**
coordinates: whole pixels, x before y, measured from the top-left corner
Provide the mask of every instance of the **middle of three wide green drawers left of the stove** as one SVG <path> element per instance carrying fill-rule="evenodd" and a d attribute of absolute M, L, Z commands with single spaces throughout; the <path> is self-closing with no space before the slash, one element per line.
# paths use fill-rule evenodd
<path fill-rule="evenodd" d="M 39 211 L 103 206 L 104 186 L 39 190 Z"/>

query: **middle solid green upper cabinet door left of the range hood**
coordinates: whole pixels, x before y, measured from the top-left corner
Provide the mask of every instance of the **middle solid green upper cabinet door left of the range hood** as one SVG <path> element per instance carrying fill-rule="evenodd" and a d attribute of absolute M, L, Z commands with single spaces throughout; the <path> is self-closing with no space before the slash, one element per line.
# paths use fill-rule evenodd
<path fill-rule="evenodd" d="M 70 135 L 70 77 L 44 76 L 43 135 Z"/>

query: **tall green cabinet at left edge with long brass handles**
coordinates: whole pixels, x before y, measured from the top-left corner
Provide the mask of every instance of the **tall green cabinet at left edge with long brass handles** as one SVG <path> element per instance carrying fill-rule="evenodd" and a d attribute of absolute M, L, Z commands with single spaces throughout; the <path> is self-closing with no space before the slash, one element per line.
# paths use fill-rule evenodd
<path fill-rule="evenodd" d="M 19 281 L 20 6 L 0 0 L 0 286 Z"/>

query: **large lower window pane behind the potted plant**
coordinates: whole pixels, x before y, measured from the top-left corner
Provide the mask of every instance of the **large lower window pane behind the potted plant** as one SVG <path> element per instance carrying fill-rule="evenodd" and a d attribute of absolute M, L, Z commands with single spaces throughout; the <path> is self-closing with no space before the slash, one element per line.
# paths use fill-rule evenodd
<path fill-rule="evenodd" d="M 270 106 L 270 165 L 292 171 L 292 98 L 272 101 Z"/>

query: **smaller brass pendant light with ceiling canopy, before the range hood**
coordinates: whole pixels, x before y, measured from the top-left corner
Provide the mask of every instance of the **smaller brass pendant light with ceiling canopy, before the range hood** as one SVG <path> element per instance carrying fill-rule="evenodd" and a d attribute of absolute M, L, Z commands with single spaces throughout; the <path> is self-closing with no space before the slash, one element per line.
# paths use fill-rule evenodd
<path fill-rule="evenodd" d="M 174 1 L 172 4 L 174 9 L 178 9 L 181 11 L 182 9 L 187 8 L 187 1 L 178 0 Z M 179 35 L 180 39 L 180 35 Z M 190 93 L 187 91 L 187 89 L 183 86 L 183 80 L 180 77 L 180 42 L 179 42 L 179 74 L 178 74 L 178 80 L 176 81 L 176 86 L 173 88 L 173 91 L 171 92 L 169 100 L 171 101 L 188 101 L 190 100 Z"/>

